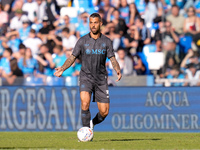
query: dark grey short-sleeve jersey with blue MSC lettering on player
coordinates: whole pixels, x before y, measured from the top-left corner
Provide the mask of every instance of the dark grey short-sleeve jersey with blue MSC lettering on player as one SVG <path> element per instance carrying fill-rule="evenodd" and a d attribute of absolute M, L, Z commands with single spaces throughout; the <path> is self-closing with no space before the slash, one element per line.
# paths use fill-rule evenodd
<path fill-rule="evenodd" d="M 72 55 L 81 55 L 82 67 L 80 78 L 89 78 L 100 83 L 107 77 L 106 58 L 114 56 L 111 40 L 101 34 L 98 39 L 93 39 L 90 34 L 81 37 L 75 45 Z M 102 83 L 102 82 L 101 82 Z"/>

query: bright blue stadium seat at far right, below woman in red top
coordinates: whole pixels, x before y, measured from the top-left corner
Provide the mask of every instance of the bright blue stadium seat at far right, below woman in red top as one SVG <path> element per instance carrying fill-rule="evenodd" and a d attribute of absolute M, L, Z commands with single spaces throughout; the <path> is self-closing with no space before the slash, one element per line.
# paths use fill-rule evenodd
<path fill-rule="evenodd" d="M 182 52 L 184 52 L 185 54 L 191 48 L 191 44 L 192 44 L 192 37 L 191 36 L 184 36 L 184 37 L 180 38 L 180 41 L 179 41 L 180 50 Z"/>

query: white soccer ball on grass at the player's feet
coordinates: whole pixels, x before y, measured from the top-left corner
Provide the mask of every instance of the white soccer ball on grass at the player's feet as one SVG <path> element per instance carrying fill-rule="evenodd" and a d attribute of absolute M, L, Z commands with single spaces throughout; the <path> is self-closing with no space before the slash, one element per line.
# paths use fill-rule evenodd
<path fill-rule="evenodd" d="M 93 131 L 89 127 L 82 127 L 78 130 L 77 137 L 81 142 L 91 141 L 93 139 Z"/>

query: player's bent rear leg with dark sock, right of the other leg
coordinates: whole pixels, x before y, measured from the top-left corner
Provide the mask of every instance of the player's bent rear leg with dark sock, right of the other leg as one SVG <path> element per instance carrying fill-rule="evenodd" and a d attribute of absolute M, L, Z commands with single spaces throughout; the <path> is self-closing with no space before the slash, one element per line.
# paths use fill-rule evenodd
<path fill-rule="evenodd" d="M 104 119 L 109 113 L 109 107 L 110 107 L 109 103 L 97 102 L 97 105 L 98 105 L 99 112 L 96 114 L 94 119 L 92 119 L 93 126 L 104 121 Z"/>

